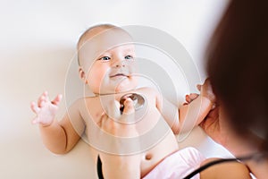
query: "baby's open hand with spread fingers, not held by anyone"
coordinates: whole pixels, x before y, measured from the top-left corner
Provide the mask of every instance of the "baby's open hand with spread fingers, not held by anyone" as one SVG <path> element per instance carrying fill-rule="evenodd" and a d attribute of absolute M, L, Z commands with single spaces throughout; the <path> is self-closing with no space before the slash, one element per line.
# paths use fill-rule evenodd
<path fill-rule="evenodd" d="M 30 105 L 31 110 L 37 114 L 33 119 L 32 124 L 41 124 L 43 126 L 52 124 L 61 100 L 62 95 L 58 95 L 54 100 L 50 101 L 47 92 L 44 92 L 38 98 L 38 104 L 32 102 Z"/>

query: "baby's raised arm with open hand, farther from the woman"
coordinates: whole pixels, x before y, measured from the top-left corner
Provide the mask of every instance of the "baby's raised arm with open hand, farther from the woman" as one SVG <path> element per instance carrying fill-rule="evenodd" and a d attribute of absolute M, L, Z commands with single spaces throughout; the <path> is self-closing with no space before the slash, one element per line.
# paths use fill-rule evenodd
<path fill-rule="evenodd" d="M 31 104 L 31 109 L 37 115 L 33 124 L 39 124 L 46 148 L 56 154 L 68 152 L 80 139 L 80 135 L 72 127 L 69 117 L 71 115 L 71 117 L 80 118 L 77 107 L 71 107 L 68 110 L 69 113 L 66 113 L 60 122 L 54 119 L 61 98 L 61 95 L 58 95 L 53 101 L 50 101 L 45 92 L 38 98 L 37 104 L 34 102 Z"/>

